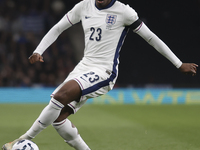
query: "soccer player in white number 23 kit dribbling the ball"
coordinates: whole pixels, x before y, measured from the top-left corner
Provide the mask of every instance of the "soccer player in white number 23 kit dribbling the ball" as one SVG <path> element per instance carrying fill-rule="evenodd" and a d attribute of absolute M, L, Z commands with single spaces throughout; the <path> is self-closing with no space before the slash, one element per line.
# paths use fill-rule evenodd
<path fill-rule="evenodd" d="M 83 0 L 76 4 L 44 36 L 29 57 L 30 63 L 44 62 L 44 51 L 64 30 L 80 21 L 85 34 L 82 60 L 52 93 L 49 104 L 32 127 L 19 139 L 5 144 L 3 150 L 11 150 L 20 139 L 33 139 L 50 124 L 76 150 L 90 150 L 67 117 L 76 113 L 87 99 L 106 94 L 113 88 L 118 76 L 119 52 L 129 30 L 140 35 L 181 72 L 196 74 L 198 65 L 182 63 L 139 19 L 133 8 L 116 0 Z"/>

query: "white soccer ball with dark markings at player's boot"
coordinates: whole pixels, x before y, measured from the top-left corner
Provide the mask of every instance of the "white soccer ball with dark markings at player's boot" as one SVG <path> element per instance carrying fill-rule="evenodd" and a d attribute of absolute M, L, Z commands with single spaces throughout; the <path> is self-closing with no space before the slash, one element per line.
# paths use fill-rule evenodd
<path fill-rule="evenodd" d="M 39 150 L 39 148 L 30 140 L 20 140 L 13 145 L 12 150 Z"/>

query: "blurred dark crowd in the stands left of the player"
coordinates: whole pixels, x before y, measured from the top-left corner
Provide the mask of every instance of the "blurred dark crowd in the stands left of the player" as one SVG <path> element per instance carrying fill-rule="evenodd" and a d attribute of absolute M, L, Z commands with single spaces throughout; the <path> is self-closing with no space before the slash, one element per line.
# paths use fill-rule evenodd
<path fill-rule="evenodd" d="M 63 33 L 44 53 L 44 63 L 28 57 L 44 34 L 73 7 L 59 0 L 0 0 L 0 87 L 57 86 L 76 65 Z"/>

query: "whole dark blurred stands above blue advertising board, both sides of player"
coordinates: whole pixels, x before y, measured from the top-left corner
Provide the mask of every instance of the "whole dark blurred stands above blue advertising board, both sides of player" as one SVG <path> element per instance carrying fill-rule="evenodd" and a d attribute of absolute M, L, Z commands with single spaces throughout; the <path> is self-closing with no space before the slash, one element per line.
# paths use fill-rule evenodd
<path fill-rule="evenodd" d="M 54 89 L 66 78 L 83 55 L 80 24 L 62 33 L 44 53 L 44 63 L 31 65 L 28 57 L 44 34 L 77 2 L 79 0 L 0 0 L 1 95 L 10 87 L 22 88 L 22 93 L 25 88 Z M 199 0 L 123 2 L 131 5 L 183 62 L 199 64 Z M 121 50 L 119 70 L 115 89 L 198 89 L 200 84 L 199 74 L 182 75 L 131 31 Z M 182 94 L 187 95 L 184 91 Z"/>

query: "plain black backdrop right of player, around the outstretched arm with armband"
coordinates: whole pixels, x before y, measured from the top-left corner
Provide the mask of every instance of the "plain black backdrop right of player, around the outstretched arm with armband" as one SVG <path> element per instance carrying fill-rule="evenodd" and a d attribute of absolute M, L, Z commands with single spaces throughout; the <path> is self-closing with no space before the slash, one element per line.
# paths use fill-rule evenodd
<path fill-rule="evenodd" d="M 200 4 L 198 0 L 124 0 L 183 62 L 199 64 Z M 123 2 L 124 2 L 123 1 Z M 120 55 L 120 85 L 199 87 L 196 77 L 182 75 L 167 59 L 129 32 Z"/>

